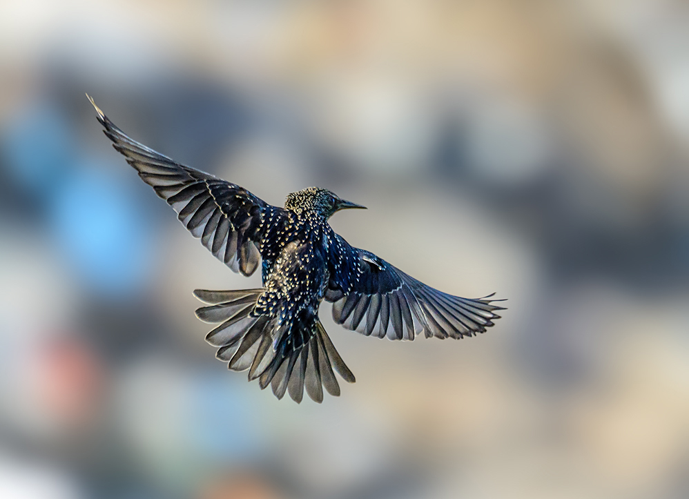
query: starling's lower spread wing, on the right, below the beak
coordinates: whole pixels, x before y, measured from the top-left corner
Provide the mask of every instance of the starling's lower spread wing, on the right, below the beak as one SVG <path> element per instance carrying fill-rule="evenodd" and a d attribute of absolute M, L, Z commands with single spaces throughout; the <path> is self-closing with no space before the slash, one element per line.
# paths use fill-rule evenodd
<path fill-rule="evenodd" d="M 419 282 L 369 251 L 353 248 L 333 233 L 326 299 L 333 319 L 347 329 L 391 340 L 461 338 L 483 333 L 500 316 L 488 295 L 472 300 Z"/>

